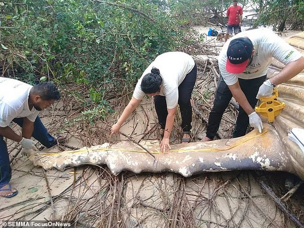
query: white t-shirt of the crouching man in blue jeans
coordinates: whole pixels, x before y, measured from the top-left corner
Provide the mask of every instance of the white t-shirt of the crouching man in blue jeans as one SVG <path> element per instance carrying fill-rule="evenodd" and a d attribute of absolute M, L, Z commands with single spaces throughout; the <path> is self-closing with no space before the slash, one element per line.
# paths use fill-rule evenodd
<path fill-rule="evenodd" d="M 14 118 L 27 117 L 35 121 L 39 111 L 34 107 L 29 110 L 31 88 L 24 82 L 0 77 L 0 127 L 7 127 Z"/>

